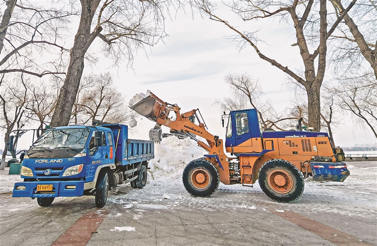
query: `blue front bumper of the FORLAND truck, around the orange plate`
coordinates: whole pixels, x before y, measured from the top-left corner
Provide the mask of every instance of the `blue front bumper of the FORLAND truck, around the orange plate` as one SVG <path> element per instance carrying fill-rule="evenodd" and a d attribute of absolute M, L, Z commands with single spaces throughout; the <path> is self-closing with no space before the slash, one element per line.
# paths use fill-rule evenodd
<path fill-rule="evenodd" d="M 15 183 L 12 197 L 81 197 L 85 181 L 31 181 Z M 52 185 L 52 191 L 37 191 L 37 185 Z"/>

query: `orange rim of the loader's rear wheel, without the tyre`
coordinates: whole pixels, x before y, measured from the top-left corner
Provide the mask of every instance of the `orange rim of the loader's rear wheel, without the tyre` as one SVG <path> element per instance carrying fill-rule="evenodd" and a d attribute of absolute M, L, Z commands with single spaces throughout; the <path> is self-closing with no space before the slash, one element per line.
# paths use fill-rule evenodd
<path fill-rule="evenodd" d="M 293 179 L 284 170 L 274 170 L 267 177 L 269 187 L 276 193 L 287 194 L 293 188 Z"/>

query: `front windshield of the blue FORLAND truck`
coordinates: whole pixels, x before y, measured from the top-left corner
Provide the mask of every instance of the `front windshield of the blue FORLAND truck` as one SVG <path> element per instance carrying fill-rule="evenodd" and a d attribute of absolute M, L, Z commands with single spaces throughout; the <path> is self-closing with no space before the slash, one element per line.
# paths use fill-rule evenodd
<path fill-rule="evenodd" d="M 30 149 L 84 148 L 89 132 L 82 128 L 46 130 Z"/>

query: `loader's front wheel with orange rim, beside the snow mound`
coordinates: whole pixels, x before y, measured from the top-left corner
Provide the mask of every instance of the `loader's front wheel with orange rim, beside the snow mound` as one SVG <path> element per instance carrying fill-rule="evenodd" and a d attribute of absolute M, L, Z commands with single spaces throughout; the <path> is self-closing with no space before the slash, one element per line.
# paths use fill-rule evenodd
<path fill-rule="evenodd" d="M 190 161 L 182 173 L 183 185 L 194 197 L 210 197 L 218 188 L 220 176 L 214 164 L 203 158 Z"/>

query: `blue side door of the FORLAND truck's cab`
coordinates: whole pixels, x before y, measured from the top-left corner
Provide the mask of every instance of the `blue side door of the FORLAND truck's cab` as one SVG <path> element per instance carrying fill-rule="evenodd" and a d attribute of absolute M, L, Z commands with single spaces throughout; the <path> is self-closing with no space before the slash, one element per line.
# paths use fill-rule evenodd
<path fill-rule="evenodd" d="M 94 130 L 88 143 L 89 154 L 87 155 L 86 165 L 86 182 L 93 181 L 97 167 L 103 164 L 108 164 L 108 158 L 110 157 L 108 142 L 106 141 L 106 132 L 102 132 L 101 136 L 102 145 L 95 147 L 95 135 L 98 132 Z"/>

